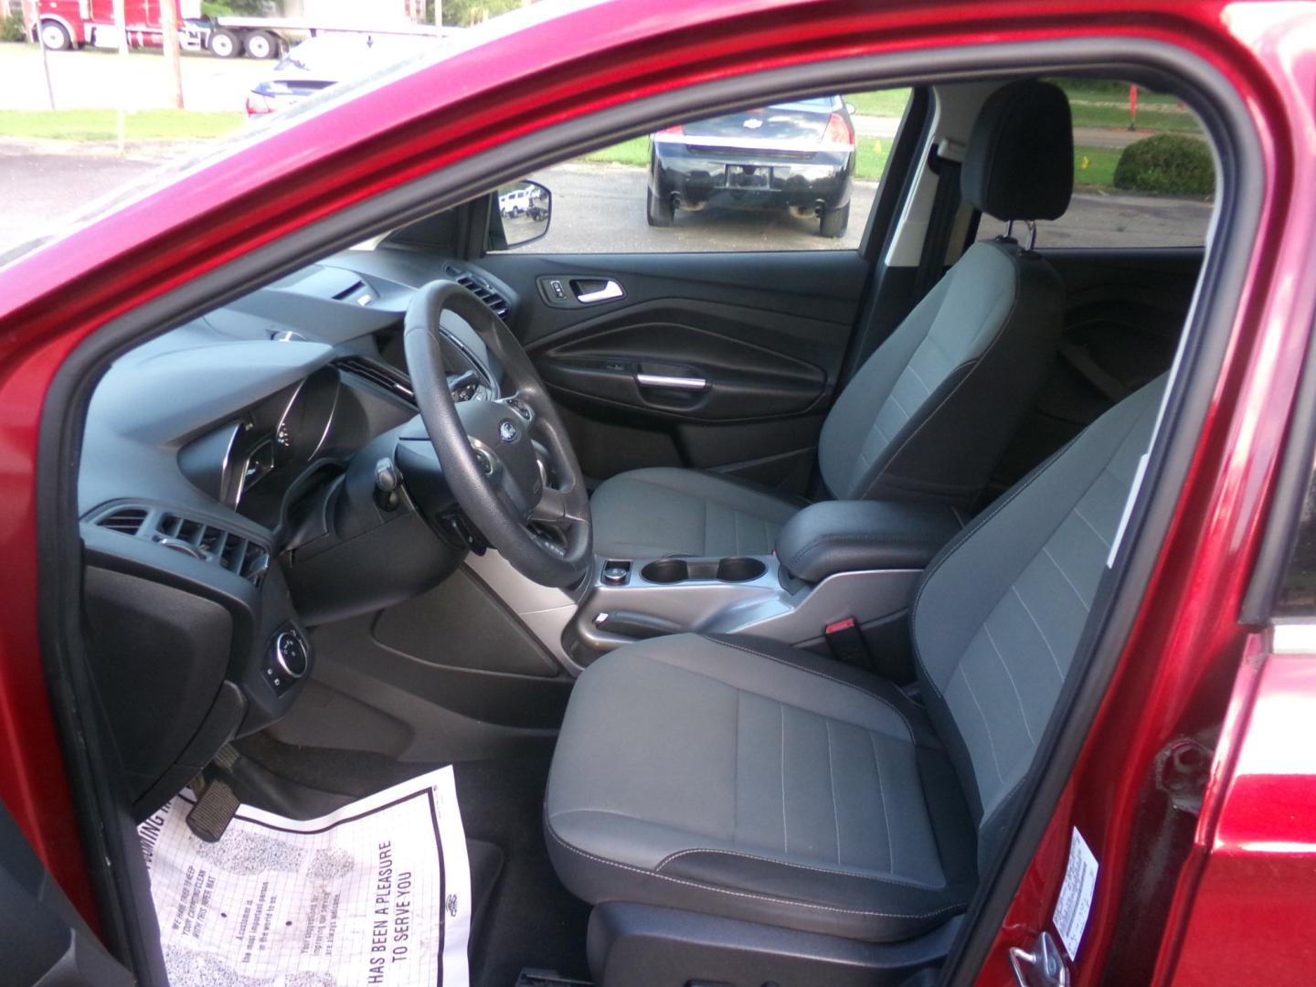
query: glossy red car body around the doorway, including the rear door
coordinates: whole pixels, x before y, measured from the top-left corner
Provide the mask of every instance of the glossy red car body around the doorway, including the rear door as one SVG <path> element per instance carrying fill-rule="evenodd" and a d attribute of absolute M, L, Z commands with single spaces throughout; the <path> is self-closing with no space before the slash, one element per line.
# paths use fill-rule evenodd
<path fill-rule="evenodd" d="M 1128 38 L 1187 51 L 1241 97 L 1262 212 L 1204 428 L 1111 688 L 982 966 L 1048 928 L 1073 826 L 1100 861 L 1075 982 L 1307 983 L 1316 925 L 1316 655 L 1274 657 L 1238 620 L 1316 313 L 1316 11 L 1269 3 L 615 0 L 515 33 L 312 116 L 0 271 L 0 797 L 93 915 L 37 624 L 37 457 L 61 363 L 130 309 L 370 196 L 645 95 L 801 62 Z M 247 204 L 262 203 L 250 221 Z M 59 683 L 54 683 L 58 687 Z M 1228 716 L 1187 862 L 1148 867 L 1138 804 L 1157 757 Z M 1111 750 L 1123 751 L 1112 758 Z M 1158 892 L 1152 954 L 1121 909 Z"/>

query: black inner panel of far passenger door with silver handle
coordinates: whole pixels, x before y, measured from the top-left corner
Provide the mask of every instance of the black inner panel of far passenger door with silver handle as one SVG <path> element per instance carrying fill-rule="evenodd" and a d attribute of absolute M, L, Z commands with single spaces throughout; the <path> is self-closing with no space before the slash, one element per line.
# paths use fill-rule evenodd
<path fill-rule="evenodd" d="M 686 466 L 805 488 L 867 272 L 858 253 L 495 254 L 482 266 L 519 296 L 512 329 L 591 479 Z"/>

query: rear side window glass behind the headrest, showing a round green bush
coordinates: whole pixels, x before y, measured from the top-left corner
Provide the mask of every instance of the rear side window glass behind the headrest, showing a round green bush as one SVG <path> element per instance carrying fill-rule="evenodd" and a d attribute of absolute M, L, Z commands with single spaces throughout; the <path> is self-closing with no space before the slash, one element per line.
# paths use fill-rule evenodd
<path fill-rule="evenodd" d="M 1037 224 L 1037 246 L 1183 247 L 1207 242 L 1215 168 L 1198 117 L 1175 96 L 1111 79 L 1054 79 L 1074 116 L 1074 199 Z M 978 240 L 1005 232 L 983 216 Z M 1015 225 L 1015 238 L 1028 230 Z"/>

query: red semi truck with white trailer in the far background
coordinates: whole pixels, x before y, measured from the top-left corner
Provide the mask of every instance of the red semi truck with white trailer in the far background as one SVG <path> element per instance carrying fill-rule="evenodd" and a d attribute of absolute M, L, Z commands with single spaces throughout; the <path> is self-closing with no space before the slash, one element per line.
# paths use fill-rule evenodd
<path fill-rule="evenodd" d="M 305 37 L 329 32 L 371 34 L 430 34 L 443 29 L 412 24 L 399 3 L 396 18 L 304 17 L 203 17 L 201 0 L 124 0 L 124 24 L 132 47 L 159 47 L 163 43 L 161 3 L 172 3 L 178 12 L 179 43 L 184 51 L 209 51 L 220 58 L 274 58 Z M 118 47 L 114 26 L 114 0 L 33 0 L 25 5 L 25 20 L 33 34 L 41 33 L 47 49 Z"/>

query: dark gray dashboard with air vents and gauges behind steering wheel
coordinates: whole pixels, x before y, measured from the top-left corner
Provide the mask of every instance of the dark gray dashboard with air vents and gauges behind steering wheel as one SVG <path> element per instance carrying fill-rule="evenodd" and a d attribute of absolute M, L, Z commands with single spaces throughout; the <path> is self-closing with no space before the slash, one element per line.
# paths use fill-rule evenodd
<path fill-rule="evenodd" d="M 351 250 L 130 350 L 97 384 L 78 482 L 86 620 L 139 817 L 288 709 L 315 659 L 305 626 L 351 590 L 388 590 L 361 559 L 434 538 L 416 511 L 370 503 L 359 474 L 417 428 L 401 328 L 436 278 L 504 318 L 516 304 L 466 263 Z M 446 313 L 442 332 L 454 399 L 499 396 L 475 330 Z M 441 578 L 461 546 L 434 544 Z"/>

